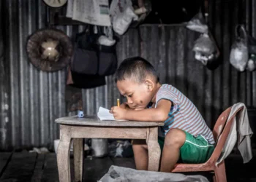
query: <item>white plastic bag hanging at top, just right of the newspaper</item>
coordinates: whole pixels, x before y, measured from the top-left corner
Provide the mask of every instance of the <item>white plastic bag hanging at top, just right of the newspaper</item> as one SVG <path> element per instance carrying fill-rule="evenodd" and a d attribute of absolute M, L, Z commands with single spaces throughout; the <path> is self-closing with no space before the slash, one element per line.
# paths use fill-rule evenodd
<path fill-rule="evenodd" d="M 113 0 L 110 5 L 110 20 L 113 30 L 119 35 L 127 31 L 132 20 L 138 20 L 130 0 Z"/>

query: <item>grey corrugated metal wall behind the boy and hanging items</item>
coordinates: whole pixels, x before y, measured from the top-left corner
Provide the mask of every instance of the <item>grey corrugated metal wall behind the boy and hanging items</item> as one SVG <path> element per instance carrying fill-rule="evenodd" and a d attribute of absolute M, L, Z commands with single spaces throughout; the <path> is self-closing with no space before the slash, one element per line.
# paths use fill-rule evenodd
<path fill-rule="evenodd" d="M 192 45 L 198 34 L 183 25 L 142 25 L 139 32 L 130 29 L 118 42 L 118 60 L 141 55 L 156 66 L 160 79 L 178 87 L 199 108 L 210 127 L 221 111 L 238 101 L 256 105 L 256 73 L 239 73 L 229 63 L 234 28 L 246 4 L 247 28 L 256 36 L 253 0 L 209 1 L 211 31 L 222 53 L 222 65 L 210 71 L 193 58 Z M 29 63 L 26 39 L 38 28 L 45 27 L 46 9 L 40 0 L 5 0 L 0 2 L 4 15 L 5 57 L 0 60 L 0 149 L 52 147 L 59 138 L 54 119 L 67 113 L 64 100 L 66 71 L 45 73 Z M 1 18 L 3 19 L 3 18 Z M 2 28 L 4 27 L 4 28 Z M 58 27 L 72 36 L 83 27 Z M 1 36 L 0 36 L 1 38 Z M 107 85 L 83 90 L 86 114 L 96 114 L 99 106 L 116 102 L 118 90 L 113 76 Z"/>

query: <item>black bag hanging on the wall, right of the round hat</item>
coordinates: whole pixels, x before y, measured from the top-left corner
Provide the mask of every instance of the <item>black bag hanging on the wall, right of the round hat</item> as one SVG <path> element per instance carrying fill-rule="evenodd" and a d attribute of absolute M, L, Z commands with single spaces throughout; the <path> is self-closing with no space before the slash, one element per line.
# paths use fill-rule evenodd
<path fill-rule="evenodd" d="M 116 44 L 100 45 L 98 39 L 101 33 L 96 34 L 92 30 L 89 33 L 82 33 L 77 38 L 71 70 L 78 74 L 99 76 L 114 74 L 117 68 Z"/>

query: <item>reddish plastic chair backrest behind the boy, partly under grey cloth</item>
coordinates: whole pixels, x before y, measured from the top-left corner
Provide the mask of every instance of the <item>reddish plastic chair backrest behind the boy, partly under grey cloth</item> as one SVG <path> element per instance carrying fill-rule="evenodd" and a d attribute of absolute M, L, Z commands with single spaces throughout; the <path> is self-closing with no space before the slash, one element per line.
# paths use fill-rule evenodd
<path fill-rule="evenodd" d="M 219 159 L 223 146 L 227 141 L 227 136 L 230 132 L 233 121 L 236 115 L 238 114 L 238 112 L 241 111 L 242 109 L 243 107 L 238 108 L 236 112 L 233 113 L 232 116 L 230 116 L 230 119 L 228 120 L 227 118 L 230 115 L 231 107 L 227 108 L 219 116 L 216 124 L 214 125 L 214 130 L 213 130 L 213 135 L 214 135 L 214 140 L 216 141 L 216 145 L 215 145 L 213 154 L 211 155 L 210 159 L 208 159 L 208 162 L 215 164 L 215 162 L 217 162 L 217 159 Z"/>

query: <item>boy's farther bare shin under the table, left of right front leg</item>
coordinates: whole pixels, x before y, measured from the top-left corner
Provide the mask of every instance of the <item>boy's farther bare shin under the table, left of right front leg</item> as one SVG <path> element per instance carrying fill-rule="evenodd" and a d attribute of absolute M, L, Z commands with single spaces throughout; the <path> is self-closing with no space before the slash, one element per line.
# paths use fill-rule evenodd
<path fill-rule="evenodd" d="M 145 140 L 133 140 L 132 149 L 136 170 L 148 170 L 148 146 Z"/>

